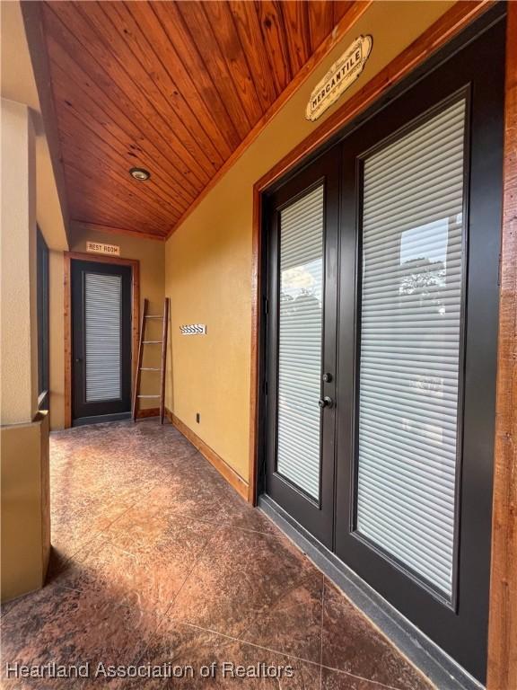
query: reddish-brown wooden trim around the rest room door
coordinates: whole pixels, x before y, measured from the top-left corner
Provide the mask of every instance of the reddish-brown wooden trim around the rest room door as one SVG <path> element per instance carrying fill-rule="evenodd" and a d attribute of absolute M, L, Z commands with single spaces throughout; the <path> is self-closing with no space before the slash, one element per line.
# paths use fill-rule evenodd
<path fill-rule="evenodd" d="M 119 259 L 86 252 L 64 252 L 63 266 L 63 307 L 65 316 L 65 419 L 64 427 L 72 426 L 72 261 L 94 261 L 110 263 L 131 268 L 131 393 L 133 393 L 136 379 L 136 359 L 140 333 L 140 261 L 137 259 Z M 104 420 L 106 421 L 106 420 Z"/>

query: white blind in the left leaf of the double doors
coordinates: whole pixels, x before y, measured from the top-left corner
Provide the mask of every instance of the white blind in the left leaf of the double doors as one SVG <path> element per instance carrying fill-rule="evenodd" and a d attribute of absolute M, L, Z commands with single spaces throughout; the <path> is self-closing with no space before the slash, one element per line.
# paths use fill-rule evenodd
<path fill-rule="evenodd" d="M 276 470 L 320 495 L 323 186 L 280 213 Z"/>

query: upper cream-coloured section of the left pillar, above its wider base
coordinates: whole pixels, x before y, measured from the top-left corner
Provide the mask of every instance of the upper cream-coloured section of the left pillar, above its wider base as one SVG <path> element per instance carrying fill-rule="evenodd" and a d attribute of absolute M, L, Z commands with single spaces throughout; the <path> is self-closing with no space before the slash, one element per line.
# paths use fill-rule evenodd
<path fill-rule="evenodd" d="M 2 99 L 1 423 L 38 409 L 35 144 L 26 105 Z"/>

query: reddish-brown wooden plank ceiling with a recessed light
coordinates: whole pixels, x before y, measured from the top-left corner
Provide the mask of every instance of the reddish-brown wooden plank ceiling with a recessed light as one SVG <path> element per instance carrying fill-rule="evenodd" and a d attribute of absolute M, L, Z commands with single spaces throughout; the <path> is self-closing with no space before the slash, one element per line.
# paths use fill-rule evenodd
<path fill-rule="evenodd" d="M 167 236 L 353 4 L 43 4 L 72 222 Z"/>

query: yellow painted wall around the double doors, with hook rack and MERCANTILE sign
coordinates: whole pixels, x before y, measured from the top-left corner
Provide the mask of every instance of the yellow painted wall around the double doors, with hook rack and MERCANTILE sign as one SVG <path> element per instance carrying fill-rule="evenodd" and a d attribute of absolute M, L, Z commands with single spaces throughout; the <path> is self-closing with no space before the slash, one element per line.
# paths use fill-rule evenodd
<path fill-rule="evenodd" d="M 360 34 L 373 37 L 364 73 L 338 101 L 362 88 L 451 2 L 377 2 L 302 84 L 165 248 L 171 297 L 167 406 L 248 479 L 252 188 L 317 126 L 304 119 L 311 90 Z M 331 108 L 317 124 L 337 106 Z M 181 323 L 206 323 L 206 336 L 181 336 Z M 201 414 L 196 423 L 196 412 Z"/>

